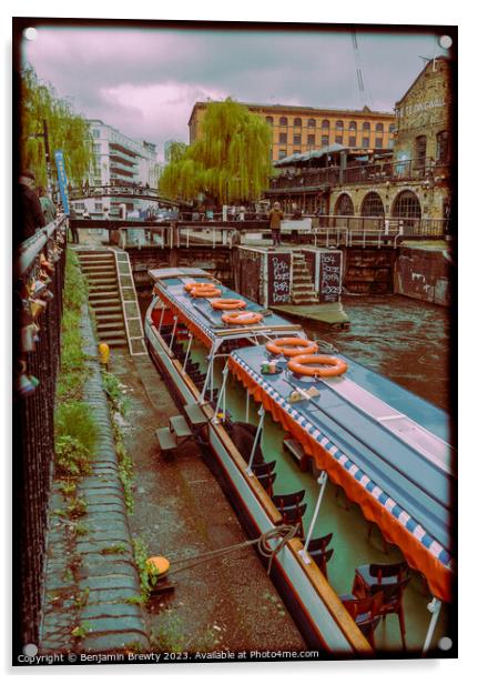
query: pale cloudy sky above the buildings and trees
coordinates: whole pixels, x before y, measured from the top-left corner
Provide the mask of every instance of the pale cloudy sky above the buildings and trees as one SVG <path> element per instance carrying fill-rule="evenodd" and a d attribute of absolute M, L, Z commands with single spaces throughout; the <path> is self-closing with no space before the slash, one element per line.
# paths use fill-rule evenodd
<path fill-rule="evenodd" d="M 252 26 L 252 24 L 251 24 Z M 286 29 L 286 24 L 284 24 Z M 439 37 L 357 29 L 366 103 L 393 111 Z M 22 59 L 77 111 L 159 145 L 189 141 L 196 100 L 360 109 L 350 32 L 39 26 Z"/>

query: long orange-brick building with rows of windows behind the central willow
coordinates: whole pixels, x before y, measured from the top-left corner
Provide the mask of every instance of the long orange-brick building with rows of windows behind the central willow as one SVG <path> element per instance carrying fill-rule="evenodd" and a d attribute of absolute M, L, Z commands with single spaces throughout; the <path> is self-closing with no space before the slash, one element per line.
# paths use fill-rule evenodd
<path fill-rule="evenodd" d="M 316 150 L 337 142 L 358 149 L 391 149 L 395 114 L 393 112 L 318 109 L 285 104 L 250 104 L 272 127 L 272 161 L 289 154 Z M 190 143 L 201 137 L 201 122 L 206 102 L 196 102 L 190 117 Z"/>

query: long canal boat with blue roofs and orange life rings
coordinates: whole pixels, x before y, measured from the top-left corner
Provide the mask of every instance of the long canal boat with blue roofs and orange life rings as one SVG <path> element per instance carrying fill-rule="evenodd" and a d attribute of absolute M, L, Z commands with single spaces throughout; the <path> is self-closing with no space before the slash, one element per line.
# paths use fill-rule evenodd
<path fill-rule="evenodd" d="M 201 269 L 150 275 L 146 345 L 182 410 L 157 431 L 161 450 L 191 436 L 205 446 L 245 530 L 267 540 L 308 646 L 324 657 L 436 652 L 455 589 L 447 415 L 321 355 L 299 325 Z M 274 536 L 284 524 L 293 535 Z"/>

